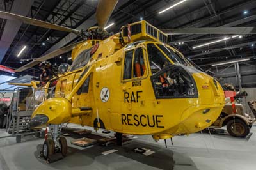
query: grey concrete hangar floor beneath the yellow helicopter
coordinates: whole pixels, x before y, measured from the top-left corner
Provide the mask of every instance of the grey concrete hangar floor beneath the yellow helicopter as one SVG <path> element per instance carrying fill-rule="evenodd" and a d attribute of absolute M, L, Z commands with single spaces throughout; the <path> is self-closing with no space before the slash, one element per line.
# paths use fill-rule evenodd
<path fill-rule="evenodd" d="M 69 127 L 75 127 L 70 125 Z M 77 127 L 77 126 L 76 126 Z M 86 127 L 88 128 L 88 127 Z M 256 169 L 256 126 L 246 139 L 225 134 L 191 134 L 173 138 L 173 146 L 168 140 L 157 143 L 151 136 L 132 138 L 132 143 L 119 146 L 73 146 L 68 139 L 68 155 L 63 160 L 47 164 L 38 159 L 44 139 L 34 136 L 22 138 L 16 144 L 15 138 L 0 139 L 0 170 L 16 169 L 202 169 L 202 170 L 255 170 Z M 99 131 L 101 134 L 101 131 Z M 6 135 L 0 131 L 0 136 Z M 113 134 L 111 134 L 113 135 Z M 137 136 L 135 136 L 137 137 Z M 156 153 L 145 156 L 134 153 L 133 148 L 150 148 Z M 103 151 L 118 150 L 109 155 Z"/>

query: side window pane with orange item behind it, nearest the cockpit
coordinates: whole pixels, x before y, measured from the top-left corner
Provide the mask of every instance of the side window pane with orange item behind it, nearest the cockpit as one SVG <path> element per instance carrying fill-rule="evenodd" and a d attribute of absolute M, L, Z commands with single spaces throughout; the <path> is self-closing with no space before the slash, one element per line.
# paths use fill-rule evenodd
<path fill-rule="evenodd" d="M 133 61 L 133 77 L 141 77 L 145 75 L 146 67 L 143 58 L 142 48 L 135 49 Z"/>

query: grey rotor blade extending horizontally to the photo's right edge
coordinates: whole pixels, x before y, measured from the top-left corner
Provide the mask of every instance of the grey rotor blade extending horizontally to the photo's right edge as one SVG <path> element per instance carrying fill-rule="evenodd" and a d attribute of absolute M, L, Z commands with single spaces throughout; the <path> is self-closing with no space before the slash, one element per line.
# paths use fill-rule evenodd
<path fill-rule="evenodd" d="M 199 28 L 177 28 L 161 30 L 167 35 L 206 35 L 206 34 L 234 34 L 255 35 L 256 27 L 199 27 Z"/>

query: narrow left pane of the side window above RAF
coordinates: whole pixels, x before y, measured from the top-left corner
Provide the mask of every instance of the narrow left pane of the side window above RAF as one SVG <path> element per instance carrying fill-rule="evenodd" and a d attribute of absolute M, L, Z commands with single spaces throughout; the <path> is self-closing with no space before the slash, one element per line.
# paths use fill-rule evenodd
<path fill-rule="evenodd" d="M 123 75 L 124 80 L 132 78 L 132 56 L 133 56 L 133 50 L 129 50 L 125 52 L 124 75 Z"/>

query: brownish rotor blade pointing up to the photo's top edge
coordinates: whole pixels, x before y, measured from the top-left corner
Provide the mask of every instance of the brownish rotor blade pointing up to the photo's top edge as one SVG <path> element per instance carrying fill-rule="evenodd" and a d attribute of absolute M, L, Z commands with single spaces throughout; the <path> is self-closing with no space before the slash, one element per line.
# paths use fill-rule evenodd
<path fill-rule="evenodd" d="M 104 29 L 117 2 L 118 0 L 99 0 L 96 11 L 96 19 L 99 29 Z"/>

